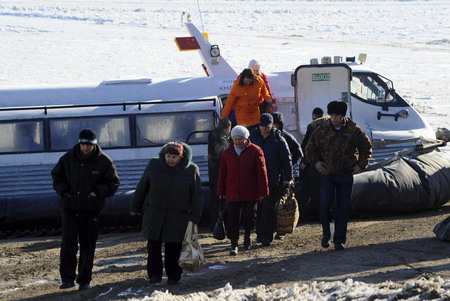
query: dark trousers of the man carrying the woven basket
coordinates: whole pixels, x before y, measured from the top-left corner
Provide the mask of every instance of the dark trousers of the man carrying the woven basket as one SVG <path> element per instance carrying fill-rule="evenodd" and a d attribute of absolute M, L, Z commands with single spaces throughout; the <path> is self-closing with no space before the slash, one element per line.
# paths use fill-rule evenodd
<path fill-rule="evenodd" d="M 269 195 L 258 202 L 256 214 L 256 234 L 258 240 L 273 241 L 275 232 L 275 205 L 280 200 L 283 187 L 278 182 L 269 183 Z"/>

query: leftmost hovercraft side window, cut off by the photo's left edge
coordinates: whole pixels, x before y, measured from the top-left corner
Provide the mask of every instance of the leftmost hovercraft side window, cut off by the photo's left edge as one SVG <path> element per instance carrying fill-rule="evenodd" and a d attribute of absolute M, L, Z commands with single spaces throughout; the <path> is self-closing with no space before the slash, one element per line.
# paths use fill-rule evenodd
<path fill-rule="evenodd" d="M 42 121 L 1 123 L 0 152 L 44 151 L 44 126 Z"/>

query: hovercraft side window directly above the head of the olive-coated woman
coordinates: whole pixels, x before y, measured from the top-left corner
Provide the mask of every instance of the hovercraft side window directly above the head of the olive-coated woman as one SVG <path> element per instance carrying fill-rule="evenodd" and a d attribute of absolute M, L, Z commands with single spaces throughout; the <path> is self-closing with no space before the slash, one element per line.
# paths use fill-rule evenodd
<path fill-rule="evenodd" d="M 214 129 L 213 112 L 182 112 L 136 116 L 138 146 L 161 145 L 170 141 L 183 141 L 191 135 L 189 143 L 207 143 L 208 133 Z"/>

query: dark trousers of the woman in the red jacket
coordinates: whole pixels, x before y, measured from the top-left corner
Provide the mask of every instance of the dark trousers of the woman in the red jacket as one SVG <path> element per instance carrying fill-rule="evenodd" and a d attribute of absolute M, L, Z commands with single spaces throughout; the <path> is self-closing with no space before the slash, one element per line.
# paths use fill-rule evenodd
<path fill-rule="evenodd" d="M 231 241 L 239 239 L 239 225 L 245 231 L 251 231 L 255 225 L 255 204 L 256 201 L 248 202 L 227 202 L 227 236 Z"/>

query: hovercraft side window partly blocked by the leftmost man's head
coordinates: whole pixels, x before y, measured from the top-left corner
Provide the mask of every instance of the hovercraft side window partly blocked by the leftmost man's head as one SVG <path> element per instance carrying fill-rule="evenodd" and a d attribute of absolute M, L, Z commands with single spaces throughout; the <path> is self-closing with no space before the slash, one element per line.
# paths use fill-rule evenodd
<path fill-rule="evenodd" d="M 78 134 L 85 128 L 97 133 L 98 144 L 102 148 L 131 146 L 128 116 L 67 118 L 50 120 L 51 150 L 72 148 L 78 143 Z"/>

